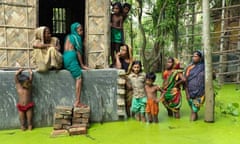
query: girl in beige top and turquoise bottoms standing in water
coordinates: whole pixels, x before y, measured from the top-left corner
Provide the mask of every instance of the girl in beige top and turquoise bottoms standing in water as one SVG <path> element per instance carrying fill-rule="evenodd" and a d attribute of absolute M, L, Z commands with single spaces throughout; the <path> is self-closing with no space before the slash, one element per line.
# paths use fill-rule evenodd
<path fill-rule="evenodd" d="M 133 89 L 133 99 L 131 112 L 135 114 L 137 120 L 145 122 L 145 107 L 147 97 L 145 93 L 145 73 L 142 72 L 142 64 L 140 61 L 134 61 L 132 64 L 132 72 L 128 76 L 127 86 Z"/>

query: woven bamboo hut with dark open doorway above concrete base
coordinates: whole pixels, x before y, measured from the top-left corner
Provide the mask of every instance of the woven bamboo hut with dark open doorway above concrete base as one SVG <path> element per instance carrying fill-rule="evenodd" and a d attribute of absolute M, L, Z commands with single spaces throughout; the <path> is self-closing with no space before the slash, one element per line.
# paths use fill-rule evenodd
<path fill-rule="evenodd" d="M 0 69 L 34 67 L 32 41 L 38 26 L 48 26 L 60 38 L 71 23 L 84 27 L 85 62 L 108 66 L 110 0 L 0 0 Z"/>

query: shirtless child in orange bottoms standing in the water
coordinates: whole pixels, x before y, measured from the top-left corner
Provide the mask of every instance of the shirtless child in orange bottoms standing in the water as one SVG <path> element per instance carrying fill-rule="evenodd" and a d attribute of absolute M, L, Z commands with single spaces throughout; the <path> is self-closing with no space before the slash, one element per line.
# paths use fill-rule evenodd
<path fill-rule="evenodd" d="M 152 123 L 158 122 L 158 112 L 159 112 L 159 99 L 157 98 L 157 91 L 163 92 L 160 86 L 154 85 L 156 75 L 150 72 L 146 75 L 145 91 L 147 94 L 147 106 L 146 113 L 148 116 L 148 122 Z"/>

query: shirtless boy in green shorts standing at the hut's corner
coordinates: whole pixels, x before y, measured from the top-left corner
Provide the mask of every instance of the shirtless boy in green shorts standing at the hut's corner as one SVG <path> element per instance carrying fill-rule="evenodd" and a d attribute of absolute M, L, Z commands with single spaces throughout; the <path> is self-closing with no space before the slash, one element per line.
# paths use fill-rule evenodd
<path fill-rule="evenodd" d="M 113 14 L 111 15 L 111 59 L 115 64 L 115 53 L 120 51 L 123 43 L 123 16 L 120 2 L 113 4 Z"/>

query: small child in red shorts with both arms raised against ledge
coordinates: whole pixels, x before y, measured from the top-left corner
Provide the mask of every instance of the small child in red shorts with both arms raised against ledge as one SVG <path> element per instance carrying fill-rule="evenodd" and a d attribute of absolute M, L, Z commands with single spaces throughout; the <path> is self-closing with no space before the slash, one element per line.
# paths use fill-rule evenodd
<path fill-rule="evenodd" d="M 16 89 L 19 96 L 18 99 L 18 113 L 21 124 L 21 129 L 26 130 L 25 124 L 27 122 L 28 129 L 32 130 L 32 107 L 34 103 L 31 100 L 32 92 L 32 70 L 29 69 L 29 76 L 22 74 L 23 69 L 19 69 L 15 74 Z"/>

